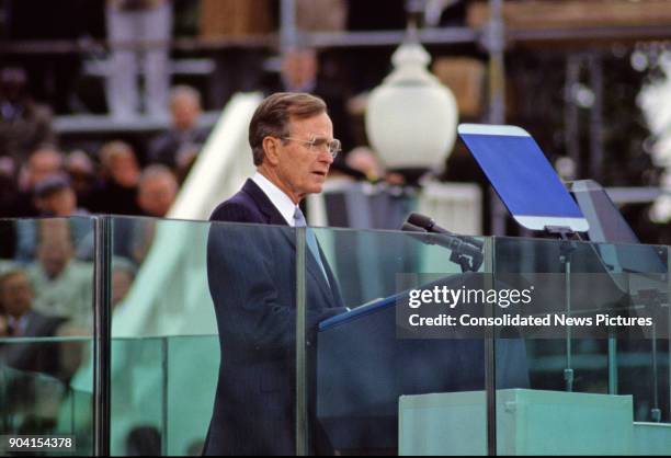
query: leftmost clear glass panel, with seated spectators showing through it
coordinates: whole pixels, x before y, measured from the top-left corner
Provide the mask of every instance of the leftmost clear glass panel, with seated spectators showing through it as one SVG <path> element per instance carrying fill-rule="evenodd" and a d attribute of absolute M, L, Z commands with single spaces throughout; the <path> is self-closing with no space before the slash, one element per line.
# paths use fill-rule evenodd
<path fill-rule="evenodd" d="M 0 220 L 0 435 L 72 435 L 91 455 L 93 219 Z M 50 454 L 49 454 L 50 455 Z"/>

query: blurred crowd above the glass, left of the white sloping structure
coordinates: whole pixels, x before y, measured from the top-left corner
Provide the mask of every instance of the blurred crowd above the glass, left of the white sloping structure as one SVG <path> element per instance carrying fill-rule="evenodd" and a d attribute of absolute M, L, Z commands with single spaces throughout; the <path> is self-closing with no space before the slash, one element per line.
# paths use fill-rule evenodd
<path fill-rule="evenodd" d="M 25 80 L 21 69 L 0 69 L 0 217 L 166 216 L 209 135 L 195 89 L 173 88 L 171 125 L 147 150 L 111 137 L 98 151 L 64 151 Z"/>

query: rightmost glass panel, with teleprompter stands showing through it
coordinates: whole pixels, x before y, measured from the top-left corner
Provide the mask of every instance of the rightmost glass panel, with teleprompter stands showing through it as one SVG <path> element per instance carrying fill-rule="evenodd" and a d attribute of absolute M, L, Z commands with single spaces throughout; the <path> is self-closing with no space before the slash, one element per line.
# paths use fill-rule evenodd
<path fill-rule="evenodd" d="M 507 389 L 497 366 L 498 453 L 659 453 L 671 428 L 636 422 L 669 423 L 667 248 L 497 238 L 494 252 L 497 282 L 530 285 L 525 313 L 551 322 L 497 340 L 499 357 L 523 344 L 530 379 Z"/>

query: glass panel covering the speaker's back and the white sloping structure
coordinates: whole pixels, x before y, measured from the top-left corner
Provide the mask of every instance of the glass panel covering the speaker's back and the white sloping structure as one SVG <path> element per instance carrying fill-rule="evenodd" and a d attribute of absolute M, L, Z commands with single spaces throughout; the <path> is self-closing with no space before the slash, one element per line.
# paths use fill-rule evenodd
<path fill-rule="evenodd" d="M 147 218 L 113 230 L 113 454 L 200 455 L 208 427 L 211 454 L 294 453 L 294 231 Z"/>

